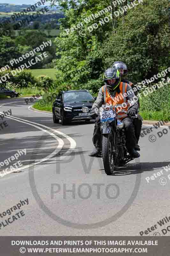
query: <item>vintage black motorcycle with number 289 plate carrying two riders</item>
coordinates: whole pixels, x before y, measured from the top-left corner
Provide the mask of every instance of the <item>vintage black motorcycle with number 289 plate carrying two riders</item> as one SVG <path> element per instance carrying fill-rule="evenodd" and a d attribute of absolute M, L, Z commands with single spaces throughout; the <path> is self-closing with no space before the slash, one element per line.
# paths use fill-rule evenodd
<path fill-rule="evenodd" d="M 116 108 L 116 106 L 114 108 L 106 107 L 98 112 L 101 129 L 101 155 L 98 157 L 103 158 L 107 175 L 114 173 L 115 165 L 124 165 L 134 159 L 127 151 L 124 124 L 117 117 L 120 112 L 126 114 L 128 112 L 125 110 L 116 112 Z M 85 113 L 87 107 L 82 107 L 82 111 Z M 137 115 L 133 117 L 137 118 Z"/>

